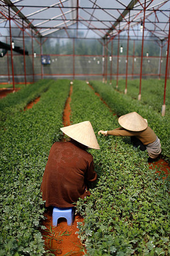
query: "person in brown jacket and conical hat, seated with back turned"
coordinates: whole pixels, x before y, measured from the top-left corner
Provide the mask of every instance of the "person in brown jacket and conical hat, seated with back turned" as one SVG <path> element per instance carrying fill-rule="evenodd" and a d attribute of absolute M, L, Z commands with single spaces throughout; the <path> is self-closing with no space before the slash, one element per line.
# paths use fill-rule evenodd
<path fill-rule="evenodd" d="M 71 141 L 55 142 L 48 156 L 41 191 L 45 206 L 73 207 L 88 195 L 87 181 L 95 181 L 93 156 L 88 148 L 99 149 L 89 121 L 61 128 Z"/>

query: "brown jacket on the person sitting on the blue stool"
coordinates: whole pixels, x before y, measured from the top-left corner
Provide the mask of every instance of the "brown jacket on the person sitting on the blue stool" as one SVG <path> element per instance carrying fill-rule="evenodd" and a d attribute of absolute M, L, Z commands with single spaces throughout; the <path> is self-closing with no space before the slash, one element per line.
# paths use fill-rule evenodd
<path fill-rule="evenodd" d="M 45 206 L 73 207 L 87 195 L 86 180 L 94 181 L 93 156 L 76 141 L 55 142 L 48 156 L 41 191 Z"/>

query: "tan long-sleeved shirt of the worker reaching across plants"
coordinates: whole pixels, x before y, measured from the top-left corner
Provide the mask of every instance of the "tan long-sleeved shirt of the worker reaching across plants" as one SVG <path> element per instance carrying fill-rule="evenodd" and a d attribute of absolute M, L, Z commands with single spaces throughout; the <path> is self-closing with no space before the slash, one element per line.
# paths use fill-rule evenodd
<path fill-rule="evenodd" d="M 136 138 L 140 139 L 144 145 L 156 141 L 156 134 L 150 127 L 147 127 L 147 129 L 143 131 L 128 131 L 123 127 L 119 127 L 114 130 L 107 131 L 107 134 L 114 136 L 136 136 Z"/>

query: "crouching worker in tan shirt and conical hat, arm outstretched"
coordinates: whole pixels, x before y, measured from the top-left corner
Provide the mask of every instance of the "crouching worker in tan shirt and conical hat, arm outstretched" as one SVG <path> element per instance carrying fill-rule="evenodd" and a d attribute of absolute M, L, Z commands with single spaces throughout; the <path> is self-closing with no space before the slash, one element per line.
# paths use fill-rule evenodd
<path fill-rule="evenodd" d="M 155 159 L 160 155 L 160 140 L 141 115 L 136 112 L 128 113 L 119 117 L 118 122 L 122 127 L 110 131 L 99 130 L 98 134 L 130 136 L 132 144 L 135 147 L 139 146 L 142 151 L 147 150 L 150 159 Z"/>

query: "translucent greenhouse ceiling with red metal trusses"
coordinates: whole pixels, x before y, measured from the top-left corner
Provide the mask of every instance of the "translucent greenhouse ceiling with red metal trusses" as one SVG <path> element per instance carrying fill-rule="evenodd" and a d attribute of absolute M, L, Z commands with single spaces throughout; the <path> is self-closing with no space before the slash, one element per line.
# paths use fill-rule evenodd
<path fill-rule="evenodd" d="M 48 38 L 113 39 L 128 31 L 141 39 L 143 26 L 146 39 L 163 42 L 169 10 L 169 0 L 0 0 L 0 32 L 7 36 L 11 23 L 13 30 Z"/>

